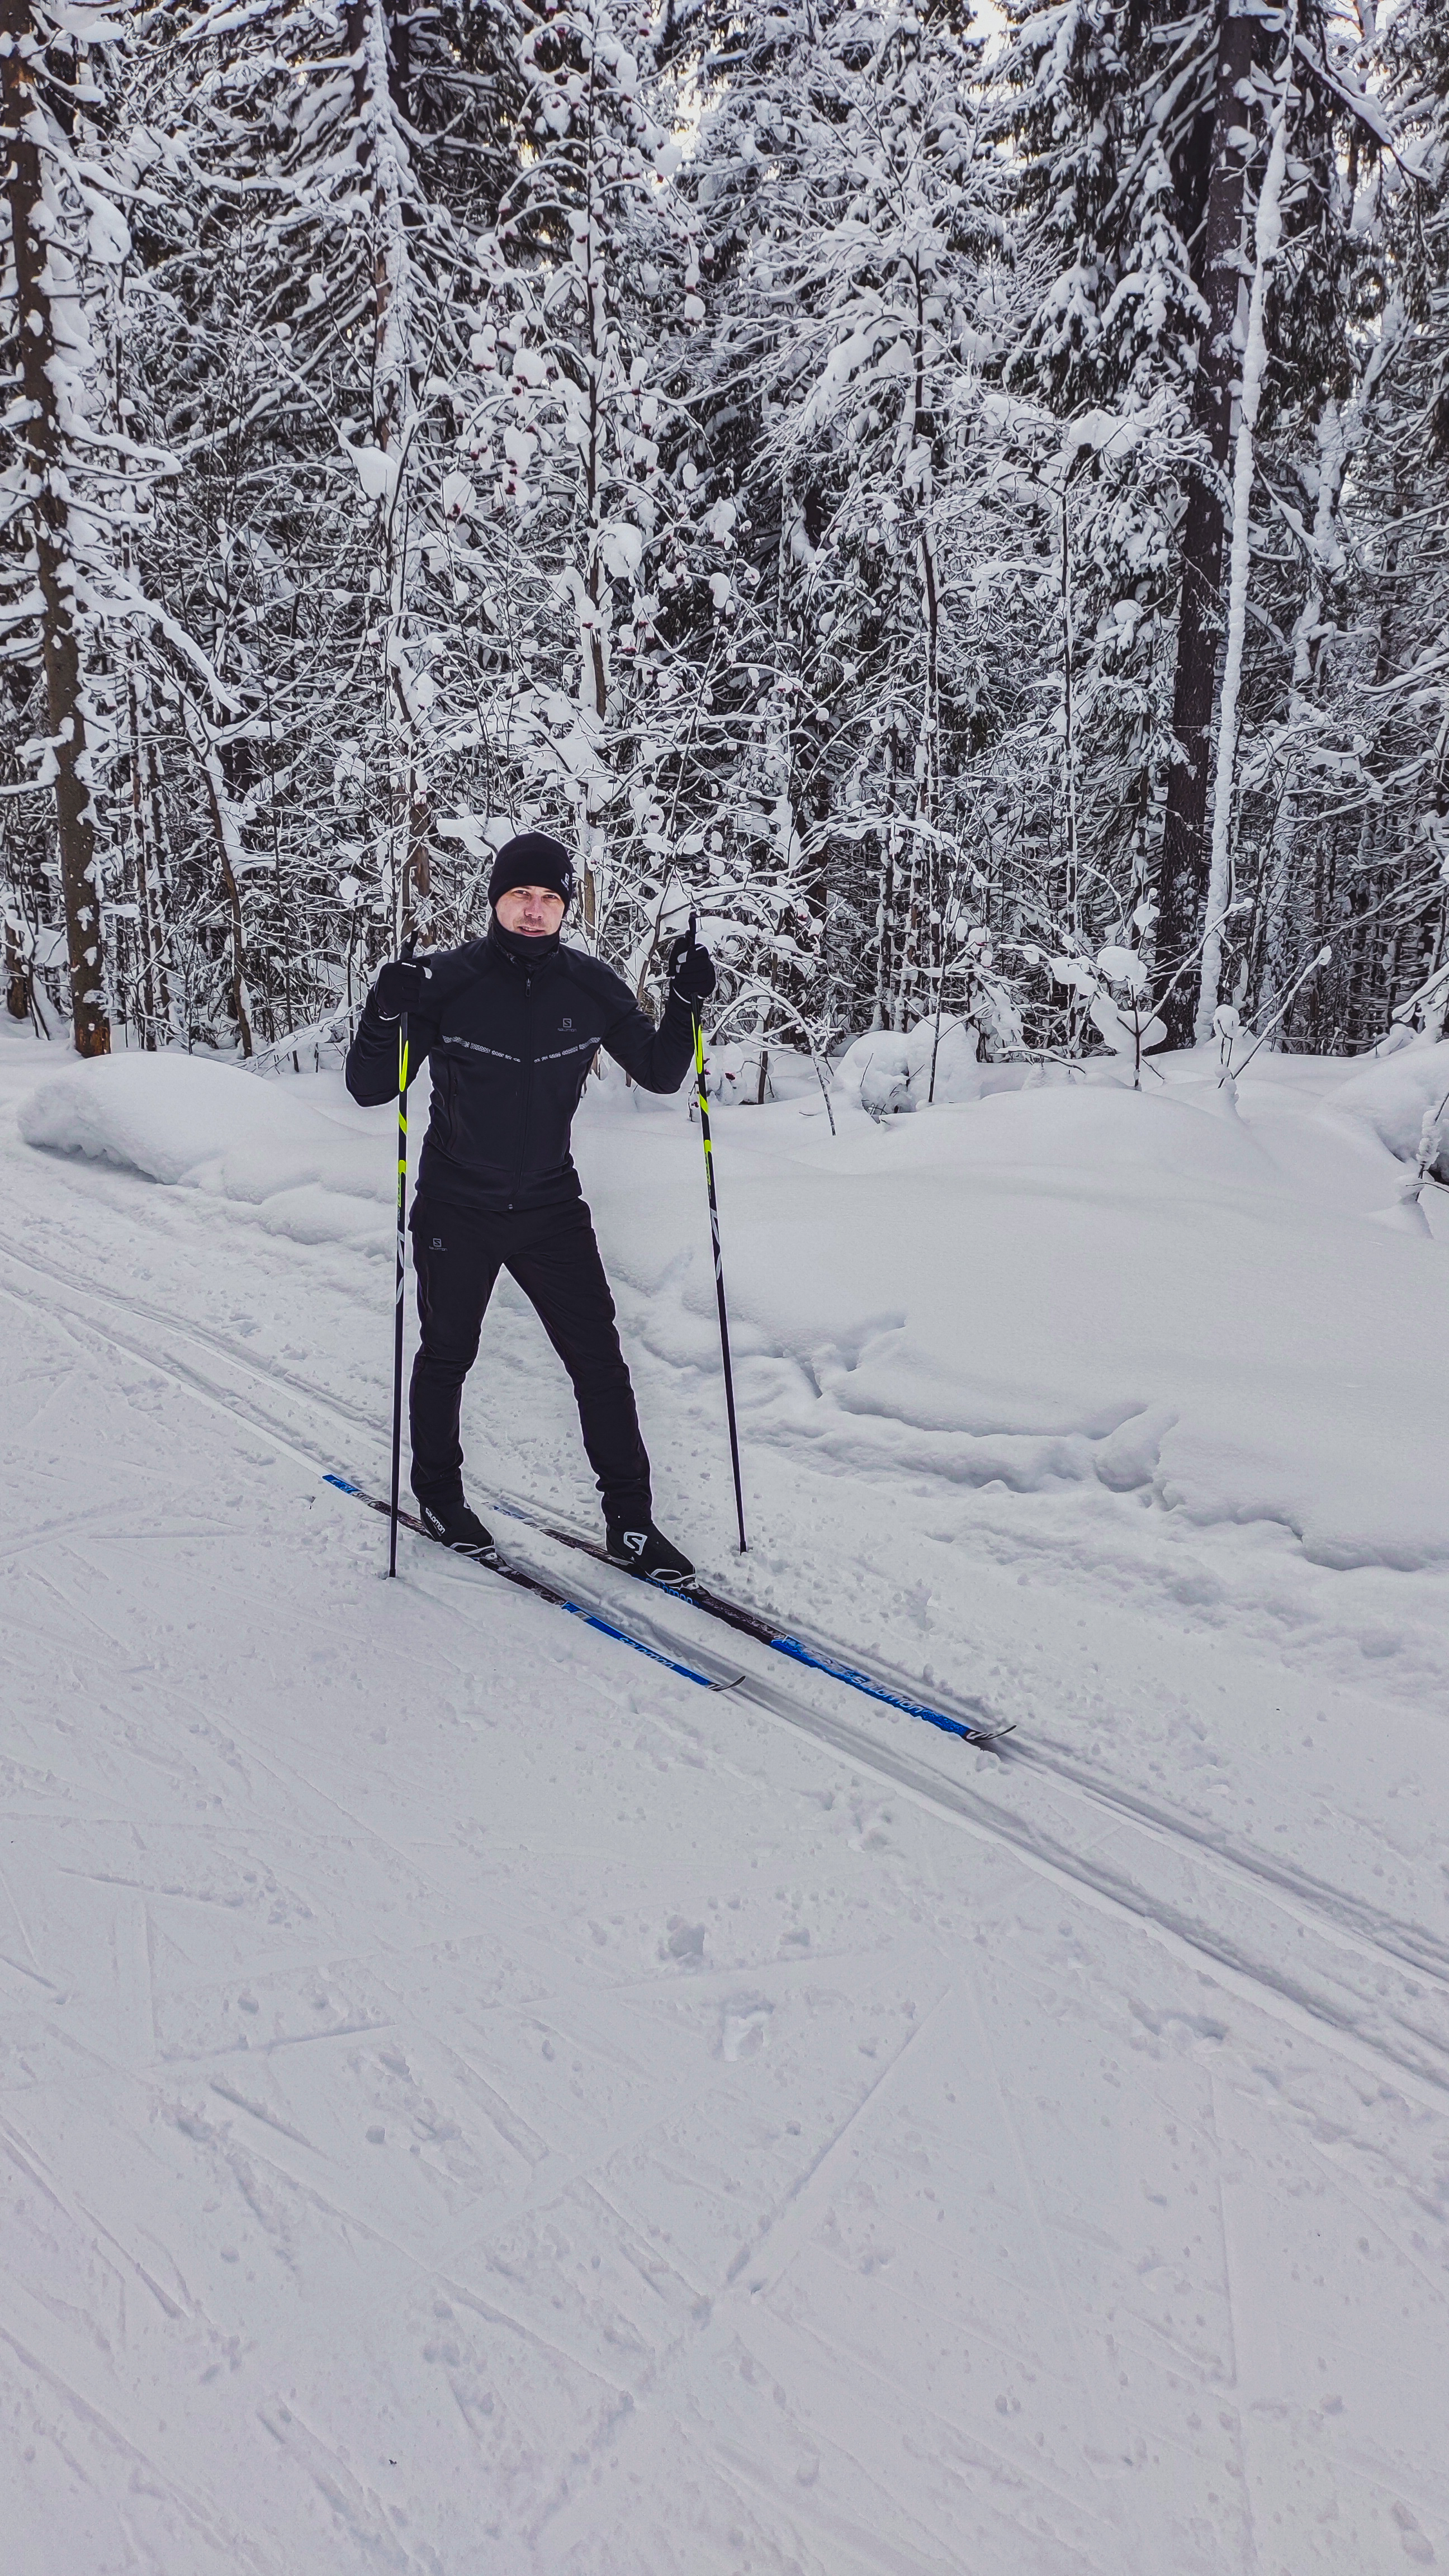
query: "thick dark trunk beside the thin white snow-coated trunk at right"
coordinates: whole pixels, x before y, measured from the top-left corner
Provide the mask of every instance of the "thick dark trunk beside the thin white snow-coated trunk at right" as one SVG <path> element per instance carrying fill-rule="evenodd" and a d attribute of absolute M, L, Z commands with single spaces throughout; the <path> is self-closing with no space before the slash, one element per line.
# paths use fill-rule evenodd
<path fill-rule="evenodd" d="M 1201 258 L 1209 325 L 1199 348 L 1194 404 L 1194 425 L 1207 440 L 1214 471 L 1189 477 L 1183 520 L 1173 765 L 1168 773 L 1168 819 L 1158 876 L 1158 963 L 1171 976 L 1178 974 L 1199 940 L 1209 876 L 1207 783 L 1212 770 L 1222 603 L 1222 477 L 1232 443 L 1235 325 L 1243 296 L 1243 214 L 1248 196 L 1248 152 L 1238 137 L 1248 129 L 1250 108 L 1238 93 L 1256 57 L 1258 18 L 1245 13 L 1245 0 L 1220 0 L 1217 108 L 1212 121 Z M 1183 974 L 1178 979 L 1176 989 L 1163 999 L 1160 1012 L 1168 1023 L 1168 1046 L 1191 1046 L 1196 1018 L 1191 976 Z"/>

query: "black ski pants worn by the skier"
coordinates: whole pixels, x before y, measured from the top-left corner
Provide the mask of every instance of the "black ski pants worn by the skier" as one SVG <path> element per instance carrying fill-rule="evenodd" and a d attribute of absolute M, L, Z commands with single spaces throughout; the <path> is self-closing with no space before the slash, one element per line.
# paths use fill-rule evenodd
<path fill-rule="evenodd" d="M 477 1360 L 492 1283 L 508 1270 L 572 1378 L 603 1510 L 611 1520 L 650 1520 L 650 1458 L 583 1198 L 529 1213 L 474 1216 L 418 1195 L 413 1267 L 423 1324 L 410 1394 L 418 1502 L 443 1510 L 462 1499 L 464 1378 Z"/>

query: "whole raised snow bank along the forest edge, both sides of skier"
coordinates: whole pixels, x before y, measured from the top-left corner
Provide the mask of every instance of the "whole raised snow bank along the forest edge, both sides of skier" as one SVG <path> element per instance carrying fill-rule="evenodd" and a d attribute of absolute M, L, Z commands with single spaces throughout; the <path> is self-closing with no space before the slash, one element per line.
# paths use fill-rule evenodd
<path fill-rule="evenodd" d="M 915 1038 L 900 1054 L 918 1087 Z M 853 1051 L 856 1054 L 856 1051 Z M 1276 1077 L 1057 1082 L 866 1115 L 856 1077 L 719 1118 L 730 1316 L 750 1443 L 918 1489 L 1104 1489 L 1271 1522 L 1328 1566 L 1449 1564 L 1446 1252 L 1364 1218 L 1418 1144 L 1449 1046 L 1294 1100 Z M 957 1066 L 982 1079 L 1031 1069 Z M 1405 1090 L 1395 1090 L 1405 1084 Z M 1354 1103 L 1359 1103 L 1354 1108 Z M 1346 1115 L 1351 1113 L 1351 1115 Z M 413 1100 L 425 1123 L 425 1087 Z M 21 1133 L 209 1190 L 294 1242 L 392 1244 L 392 1110 L 338 1074 L 186 1056 L 44 1082 Z M 575 1149 L 627 1329 L 717 1378 L 688 1097 L 590 1084 Z"/>

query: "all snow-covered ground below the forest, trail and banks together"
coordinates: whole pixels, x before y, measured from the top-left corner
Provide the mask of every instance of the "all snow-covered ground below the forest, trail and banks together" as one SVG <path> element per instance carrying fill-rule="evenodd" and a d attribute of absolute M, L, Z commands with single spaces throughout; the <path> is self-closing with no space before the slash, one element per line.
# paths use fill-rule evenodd
<path fill-rule="evenodd" d="M 663 1525 L 987 1754 L 387 1584 L 387 1113 L 3 1033 L 21 2576 L 1449 2566 L 1439 1066 L 1165 1074 L 722 1113 L 743 1566 L 699 1136 L 580 1121 Z M 511 1288 L 464 1430 L 590 1528 Z"/>

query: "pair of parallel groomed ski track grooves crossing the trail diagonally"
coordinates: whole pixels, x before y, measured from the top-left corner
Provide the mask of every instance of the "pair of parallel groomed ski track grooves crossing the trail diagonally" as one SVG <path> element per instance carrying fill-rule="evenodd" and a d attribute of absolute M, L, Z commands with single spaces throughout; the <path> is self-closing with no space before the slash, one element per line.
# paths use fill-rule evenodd
<path fill-rule="evenodd" d="M 103 1345 L 111 1345 L 126 1358 L 139 1360 L 147 1368 L 165 1370 L 170 1381 L 199 1404 L 217 1409 L 219 1414 L 245 1425 L 248 1430 L 266 1432 L 266 1437 L 289 1448 L 294 1461 L 320 1479 L 338 1466 L 338 1448 L 322 1448 L 304 1443 L 294 1422 L 278 1419 L 278 1409 L 255 1401 L 255 1391 L 276 1394 L 278 1386 L 286 1388 L 291 1404 L 312 1409 L 317 1417 L 335 1427 L 335 1443 L 371 1440 L 379 1445 L 376 1422 L 361 1417 L 356 1409 L 338 1404 L 338 1399 L 325 1396 L 304 1376 L 294 1370 L 258 1368 L 235 1342 L 224 1334 L 209 1332 L 196 1324 L 178 1324 L 162 1306 L 142 1298 L 129 1298 L 116 1288 L 95 1288 L 67 1273 L 62 1265 L 36 1257 L 34 1252 L 21 1252 L 13 1242 L 0 1236 L 0 1257 L 10 1265 L 10 1273 L 21 1270 L 49 1283 L 52 1314 L 67 1321 L 72 1329 L 93 1332 Z M 64 1291 L 70 1306 L 54 1303 L 54 1291 Z M 0 1278 L 0 1293 L 13 1303 L 26 1301 L 23 1285 L 10 1278 Z M 121 1332 L 116 1327 L 116 1314 L 124 1314 L 137 1327 L 147 1332 Z M 168 1345 L 157 1347 L 155 1332 L 168 1334 Z M 196 1360 L 183 1358 L 183 1350 L 204 1355 L 211 1368 L 232 1370 L 253 1391 L 240 1394 L 237 1386 L 227 1386 L 217 1373 L 206 1376 Z M 343 1471 L 348 1461 L 343 1458 Z M 480 1489 L 482 1499 L 482 1489 Z M 487 1504 L 485 1504 L 487 1510 Z M 428 1546 L 415 1540 L 415 1546 Z M 562 1558 L 562 1551 L 554 1551 Z M 619 1584 L 611 1589 L 596 1589 L 572 1579 L 570 1558 L 570 1584 L 580 1600 L 593 1602 L 616 1618 L 627 1618 L 632 1625 L 645 1631 L 645 1638 L 657 1649 L 660 1662 L 668 1664 L 670 1654 L 694 1654 L 699 1662 L 709 1662 L 709 1646 L 699 1641 L 699 1631 L 709 1628 L 704 1613 L 694 1613 L 694 1636 L 688 1643 L 681 1641 L 681 1623 L 688 1628 L 688 1605 L 678 1595 L 650 1592 L 632 1577 L 621 1574 Z M 480 1579 L 487 1579 L 487 1569 L 474 1569 Z M 547 1556 L 539 1556 L 539 1571 L 547 1579 Z M 670 1618 L 665 1615 L 673 1613 Z M 717 1656 L 717 1680 L 732 1680 L 737 1659 Z M 825 1685 L 830 1690 L 833 1685 Z M 1387 1914 L 1374 1914 L 1361 1901 L 1343 1896 L 1338 1891 L 1323 1888 L 1269 1855 L 1230 1850 L 1222 1842 L 1204 1837 L 1204 1832 L 1183 1819 L 1173 1816 L 1171 1806 L 1150 1803 L 1129 1790 L 1104 1785 L 1083 1775 L 1065 1754 L 1052 1752 L 1042 1744 L 1021 1741 L 1021 1736 L 1003 1736 L 993 1747 L 959 1747 L 959 1759 L 972 1765 L 972 1780 L 954 1780 L 941 1762 L 928 1762 L 923 1754 L 913 1752 L 910 1744 L 892 1744 L 874 1728 L 866 1728 L 838 1708 L 810 1705 L 799 1692 L 786 1690 L 771 1674 L 745 1672 L 737 1682 L 737 1695 L 753 1700 L 758 1708 L 776 1716 L 781 1723 L 815 1736 L 830 1752 L 841 1754 L 851 1765 L 869 1770 L 877 1780 L 895 1790 L 902 1790 L 915 1803 L 946 1816 L 951 1824 L 987 1842 L 1011 1844 L 1011 1850 L 1039 1875 L 1070 1888 L 1088 1904 L 1101 1906 L 1109 1914 L 1132 1919 L 1150 1940 L 1155 1940 L 1168 1955 L 1199 1968 L 1209 1968 L 1230 1991 L 1250 1996 L 1263 2012 L 1281 2020 L 1287 2027 L 1312 2035 L 1325 2045 L 1336 2048 L 1348 2063 L 1366 2074 L 1403 2087 L 1408 2099 L 1423 2107 L 1441 2110 L 1449 2102 L 1449 1942 L 1434 1940 L 1421 1924 L 1397 1922 Z M 841 1687 L 843 1695 L 843 1687 Z M 714 1752 L 719 1759 L 730 1757 L 727 1741 L 727 1698 L 730 1690 L 719 1687 L 717 1700 L 717 1741 Z M 887 1716 L 887 1710 L 882 1710 Z M 910 1718 L 900 1721 L 902 1731 L 913 1728 Z M 1214 1927 L 1204 1914 L 1194 1914 L 1181 1901 L 1165 1893 L 1155 1893 L 1150 1886 L 1150 1862 L 1137 1870 L 1109 1868 L 1085 1850 L 1073 1850 L 1060 1834 L 1047 1832 L 1042 1824 L 1031 1821 L 1026 1814 L 1013 1814 L 1000 1798 L 993 1798 L 980 1783 L 982 1772 L 993 1772 L 1000 1765 L 1003 1785 L 1013 1780 L 1044 1780 L 1055 1790 L 1065 1790 L 1085 1814 L 1111 1819 L 1119 1829 L 1134 1832 L 1145 1852 L 1160 1852 L 1171 1862 L 1183 1860 L 1191 1868 L 1209 1870 L 1222 1880 L 1232 1883 L 1238 1891 L 1248 1893 L 1269 1909 L 1269 1924 L 1281 1940 L 1284 1927 L 1292 1932 L 1294 1942 L 1310 1945 L 1323 1942 L 1328 1950 L 1338 1953 L 1343 1960 L 1359 1960 L 1374 1976 L 1395 1981 L 1395 1996 L 1385 1996 L 1382 1984 L 1369 1996 L 1361 1989 L 1338 1991 L 1341 1981 L 1325 1965 L 1325 1960 L 1310 1963 L 1307 1958 L 1274 1960 L 1269 1953 L 1274 1947 L 1271 1935 L 1263 1937 L 1261 1947 L 1253 1950 L 1238 1937 L 1230 1937 L 1222 1927 Z M 1318 1973 L 1312 1973 L 1318 1968 Z M 1436 2012 L 1426 2014 L 1423 2007 L 1434 2004 Z"/>

